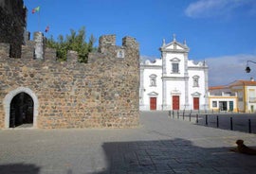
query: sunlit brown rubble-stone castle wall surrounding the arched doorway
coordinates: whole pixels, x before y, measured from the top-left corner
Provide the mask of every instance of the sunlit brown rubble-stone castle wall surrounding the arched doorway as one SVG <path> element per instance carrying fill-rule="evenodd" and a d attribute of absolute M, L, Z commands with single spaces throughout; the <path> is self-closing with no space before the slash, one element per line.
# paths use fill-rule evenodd
<path fill-rule="evenodd" d="M 130 37 L 123 38 L 122 46 L 104 43 L 104 39 L 111 37 L 115 38 L 113 35 L 101 37 L 102 47 L 99 52 L 90 54 L 86 64 L 77 61 L 75 52 L 69 52 L 68 60 L 63 62 L 48 57 L 45 60 L 9 58 L 5 53 L 9 44 L 2 43 L 0 128 L 7 128 L 9 124 L 5 111 L 9 103 L 5 100 L 19 88 L 24 92 L 29 89 L 38 98 L 36 128 L 137 126 L 138 45 Z M 25 54 L 27 47 L 23 46 Z M 121 58 L 119 51 L 123 54 Z M 52 52 L 49 49 L 45 54 L 53 56 Z"/>

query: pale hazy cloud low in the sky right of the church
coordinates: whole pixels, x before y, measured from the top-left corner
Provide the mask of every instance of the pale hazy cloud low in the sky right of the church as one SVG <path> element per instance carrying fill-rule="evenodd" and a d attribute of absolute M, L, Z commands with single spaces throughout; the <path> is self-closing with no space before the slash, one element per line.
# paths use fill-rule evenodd
<path fill-rule="evenodd" d="M 237 79 L 256 78 L 256 64 L 249 63 L 250 73 L 246 73 L 247 61 L 255 61 L 256 55 L 234 55 L 206 59 L 209 66 L 209 85 L 226 85 Z"/>

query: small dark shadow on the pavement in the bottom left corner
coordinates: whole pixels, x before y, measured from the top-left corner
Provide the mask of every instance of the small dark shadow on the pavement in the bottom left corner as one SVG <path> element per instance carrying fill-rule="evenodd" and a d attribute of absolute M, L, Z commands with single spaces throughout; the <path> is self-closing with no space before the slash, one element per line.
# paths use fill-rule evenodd
<path fill-rule="evenodd" d="M 8 164 L 0 165 L 1 174 L 39 174 L 40 167 L 27 164 Z"/>

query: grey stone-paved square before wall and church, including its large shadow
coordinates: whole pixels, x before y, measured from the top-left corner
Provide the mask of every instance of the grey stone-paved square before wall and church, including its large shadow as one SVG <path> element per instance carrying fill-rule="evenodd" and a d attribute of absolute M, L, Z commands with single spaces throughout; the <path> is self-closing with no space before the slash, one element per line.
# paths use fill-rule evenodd
<path fill-rule="evenodd" d="M 236 139 L 255 147 L 255 134 L 166 115 L 141 113 L 137 129 L 0 130 L 0 173 L 19 164 L 39 168 L 33 174 L 255 173 L 255 156 L 229 151 Z"/>

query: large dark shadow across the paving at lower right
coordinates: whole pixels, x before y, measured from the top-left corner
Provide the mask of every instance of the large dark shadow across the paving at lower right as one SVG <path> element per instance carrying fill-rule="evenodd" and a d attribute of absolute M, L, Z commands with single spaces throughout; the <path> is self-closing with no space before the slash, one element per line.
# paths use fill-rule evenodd
<path fill-rule="evenodd" d="M 229 148 L 200 148 L 184 139 L 104 143 L 108 168 L 114 173 L 253 173 L 256 156 Z"/>

